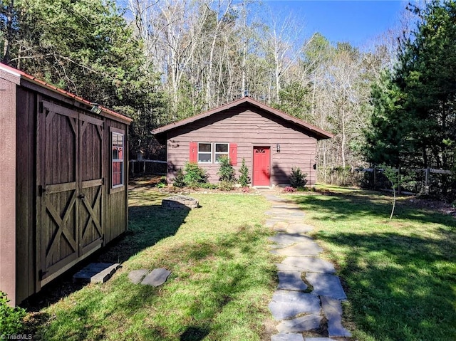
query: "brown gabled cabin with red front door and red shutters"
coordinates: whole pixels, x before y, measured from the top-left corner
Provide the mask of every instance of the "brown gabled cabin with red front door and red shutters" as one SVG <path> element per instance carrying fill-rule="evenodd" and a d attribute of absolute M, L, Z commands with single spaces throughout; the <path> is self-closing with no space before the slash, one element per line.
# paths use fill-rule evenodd
<path fill-rule="evenodd" d="M 235 169 L 245 159 L 256 187 L 289 184 L 291 167 L 300 167 L 308 184 L 314 184 L 317 141 L 333 137 L 248 97 L 152 133 L 167 146 L 169 182 L 186 162 L 197 162 L 207 169 L 209 182 L 217 183 L 218 159 L 226 155 Z"/>

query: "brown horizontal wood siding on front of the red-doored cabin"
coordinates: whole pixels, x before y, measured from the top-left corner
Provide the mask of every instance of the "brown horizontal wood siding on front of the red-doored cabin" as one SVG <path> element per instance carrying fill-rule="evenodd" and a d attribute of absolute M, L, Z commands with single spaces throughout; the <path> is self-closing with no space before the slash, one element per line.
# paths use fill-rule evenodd
<path fill-rule="evenodd" d="M 291 167 L 300 167 L 308 174 L 308 184 L 314 184 L 316 138 L 297 130 L 296 125 L 260 110 L 227 110 L 170 131 L 167 140 L 170 180 L 188 161 L 190 142 L 229 142 L 238 145 L 238 164 L 234 168 L 239 169 L 244 157 L 250 177 L 253 147 L 269 146 L 271 184 L 287 184 Z M 281 152 L 277 152 L 277 144 L 280 144 Z M 202 164 L 202 167 L 207 169 L 210 182 L 218 182 L 218 164 Z"/>

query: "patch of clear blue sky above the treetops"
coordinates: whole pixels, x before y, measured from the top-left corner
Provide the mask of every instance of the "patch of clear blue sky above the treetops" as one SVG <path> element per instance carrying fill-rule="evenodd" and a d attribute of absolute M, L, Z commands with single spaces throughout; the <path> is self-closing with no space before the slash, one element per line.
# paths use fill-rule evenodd
<path fill-rule="evenodd" d="M 309 35 L 318 31 L 331 42 L 363 46 L 398 23 L 408 1 L 264 0 L 264 4 L 273 12 L 291 11 Z"/>

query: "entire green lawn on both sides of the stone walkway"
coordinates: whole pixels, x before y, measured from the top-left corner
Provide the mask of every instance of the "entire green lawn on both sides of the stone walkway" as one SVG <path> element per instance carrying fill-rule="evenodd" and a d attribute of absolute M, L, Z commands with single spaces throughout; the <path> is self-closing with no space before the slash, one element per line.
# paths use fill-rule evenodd
<path fill-rule="evenodd" d="M 262 227 L 269 203 L 192 194 L 201 208 L 170 214 L 164 196 L 130 193 L 130 232 L 99 258 L 123 267 L 43 308 L 36 340 L 270 340 L 277 259 Z M 456 340 L 455 218 L 400 198 L 388 221 L 392 198 L 356 189 L 288 197 L 336 264 L 353 340 Z M 172 271 L 159 288 L 127 278 L 158 267 Z"/>

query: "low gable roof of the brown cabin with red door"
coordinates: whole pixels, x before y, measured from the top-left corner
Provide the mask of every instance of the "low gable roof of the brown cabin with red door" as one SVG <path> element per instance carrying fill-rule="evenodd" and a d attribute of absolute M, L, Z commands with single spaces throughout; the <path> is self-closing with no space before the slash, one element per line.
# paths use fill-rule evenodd
<path fill-rule="evenodd" d="M 154 130 L 152 130 L 152 134 L 155 135 L 157 140 L 162 140 L 163 134 L 165 134 L 166 132 L 168 132 L 170 130 L 173 130 L 177 127 L 182 127 L 184 125 L 195 122 L 197 120 L 202 120 L 205 117 L 209 117 L 209 116 L 215 115 L 219 112 L 223 112 L 224 110 L 233 109 L 234 107 L 237 107 L 239 105 L 244 105 L 244 104 L 249 104 L 254 107 L 258 107 L 261 110 L 269 112 L 271 115 L 275 115 L 276 117 L 281 117 L 281 119 L 291 122 L 292 124 L 296 125 L 297 127 L 304 128 L 305 130 L 310 130 L 311 132 L 314 133 L 314 135 L 316 135 L 317 140 L 331 139 L 334 136 L 333 134 L 331 134 L 331 132 L 326 132 L 325 130 L 317 128 L 314 125 L 310 125 L 309 123 L 304 122 L 303 120 L 299 120 L 299 118 L 288 115 L 285 112 L 274 109 L 273 107 L 264 105 L 263 103 L 260 103 L 257 100 L 253 100 L 252 98 L 249 98 L 249 97 L 244 97 L 239 100 L 234 100 L 231 103 L 222 105 L 221 107 L 216 107 L 215 109 L 209 110 L 207 112 L 202 112 L 199 115 L 188 117 L 188 118 L 185 118 L 184 120 L 180 120 L 180 121 L 171 123 L 169 125 L 165 125 L 163 127 L 154 129 Z"/>

